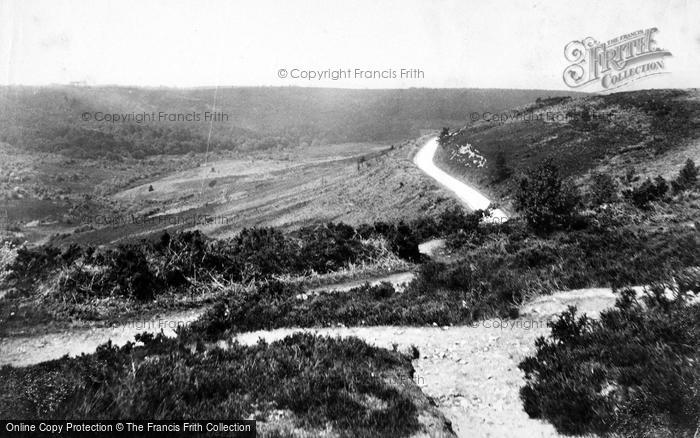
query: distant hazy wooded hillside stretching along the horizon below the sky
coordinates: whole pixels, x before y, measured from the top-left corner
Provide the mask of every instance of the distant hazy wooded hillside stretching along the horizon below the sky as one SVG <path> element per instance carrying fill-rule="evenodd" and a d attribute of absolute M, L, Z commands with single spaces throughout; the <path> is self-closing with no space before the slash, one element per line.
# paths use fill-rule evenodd
<path fill-rule="evenodd" d="M 23 149 L 80 158 L 141 158 L 206 150 L 278 150 L 332 143 L 395 141 L 421 130 L 460 124 L 471 111 L 503 110 L 546 90 L 407 89 L 349 90 L 297 87 L 132 88 L 2 87 L 0 141 Z M 111 123 L 96 113 L 156 113 L 155 123 Z M 199 121 L 169 115 L 200 114 Z M 88 120 L 82 118 L 90 115 Z M 95 120 L 95 119 L 99 120 Z"/>

